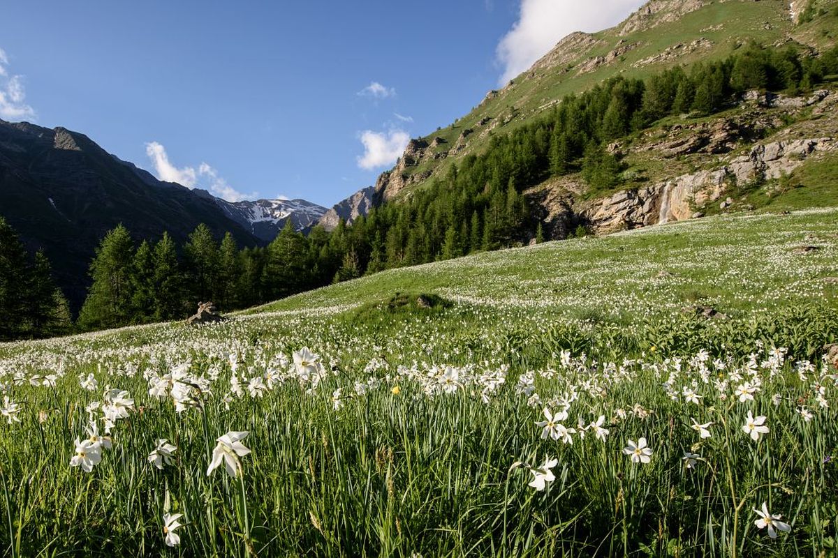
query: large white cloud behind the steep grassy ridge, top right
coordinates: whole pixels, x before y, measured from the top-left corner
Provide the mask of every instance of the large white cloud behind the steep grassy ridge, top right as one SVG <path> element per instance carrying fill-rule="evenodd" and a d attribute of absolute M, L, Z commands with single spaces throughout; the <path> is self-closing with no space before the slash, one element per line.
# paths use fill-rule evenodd
<path fill-rule="evenodd" d="M 639 8 L 643 0 L 521 0 L 520 16 L 500 40 L 497 58 L 504 72 L 499 83 L 528 69 L 574 31 L 612 27 Z"/>

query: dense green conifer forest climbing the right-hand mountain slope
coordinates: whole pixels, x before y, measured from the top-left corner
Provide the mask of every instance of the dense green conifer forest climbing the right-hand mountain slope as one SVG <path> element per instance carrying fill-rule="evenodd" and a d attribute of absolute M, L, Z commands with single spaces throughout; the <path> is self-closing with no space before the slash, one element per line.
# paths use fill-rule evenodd
<path fill-rule="evenodd" d="M 818 58 L 794 49 L 743 47 L 730 58 L 668 69 L 648 79 L 618 77 L 568 95 L 550 114 L 503 136 L 444 177 L 386 203 L 349 233 L 344 277 L 423 264 L 541 239 L 541 219 L 522 195 L 551 176 L 581 173 L 588 195 L 618 187 L 623 162 L 608 143 L 669 115 L 710 115 L 747 90 L 797 94 L 838 74 L 838 49 Z"/>

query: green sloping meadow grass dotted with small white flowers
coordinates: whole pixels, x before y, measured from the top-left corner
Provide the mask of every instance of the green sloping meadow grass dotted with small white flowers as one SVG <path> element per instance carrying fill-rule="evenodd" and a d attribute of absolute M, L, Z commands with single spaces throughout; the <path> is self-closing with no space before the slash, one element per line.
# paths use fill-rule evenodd
<path fill-rule="evenodd" d="M 820 354 L 838 336 L 825 281 L 836 216 L 707 218 L 395 269 L 219 325 L 0 345 L 3 407 L 20 404 L 20 422 L 0 422 L 0 545 L 25 556 L 830 555 L 838 386 Z M 801 243 L 820 249 L 794 253 Z M 288 359 L 304 346 L 319 358 L 303 375 Z M 786 357 L 772 360 L 773 346 Z M 803 359 L 814 370 L 795 367 Z M 89 374 L 92 391 L 80 385 Z M 733 393 L 745 381 L 759 383 L 753 402 Z M 85 473 L 70 467 L 74 440 L 90 417 L 105 426 L 85 407 L 106 387 L 134 402 Z M 562 422 L 582 421 L 586 436 L 541 438 L 535 422 L 565 400 Z M 747 412 L 767 417 L 758 441 L 742 432 Z M 604 441 L 588 427 L 599 416 Z M 711 438 L 693 419 L 713 422 Z M 208 476 L 228 431 L 247 431 L 251 453 L 239 476 Z M 147 459 L 159 438 L 177 446 L 162 470 Z M 639 438 L 649 463 L 623 453 Z M 696 468 L 685 451 L 701 455 Z M 546 458 L 555 479 L 536 491 L 530 467 Z M 753 523 L 763 501 L 791 527 L 777 540 Z M 173 548 L 165 513 L 184 514 Z"/>

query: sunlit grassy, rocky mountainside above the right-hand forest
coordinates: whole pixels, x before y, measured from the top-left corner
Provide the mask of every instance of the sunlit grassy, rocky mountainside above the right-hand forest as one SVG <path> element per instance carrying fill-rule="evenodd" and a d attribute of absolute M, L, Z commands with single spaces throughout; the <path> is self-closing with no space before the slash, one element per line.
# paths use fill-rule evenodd
<path fill-rule="evenodd" d="M 489 148 L 552 110 L 565 95 L 605 79 L 644 79 L 676 65 L 726 59 L 749 42 L 817 54 L 835 45 L 835 0 L 652 0 L 623 23 L 598 33 L 572 33 L 462 118 L 411 141 L 375 185 L 382 201 L 399 199 L 444 177 L 453 164 Z M 804 7 L 817 17 L 802 21 Z"/>

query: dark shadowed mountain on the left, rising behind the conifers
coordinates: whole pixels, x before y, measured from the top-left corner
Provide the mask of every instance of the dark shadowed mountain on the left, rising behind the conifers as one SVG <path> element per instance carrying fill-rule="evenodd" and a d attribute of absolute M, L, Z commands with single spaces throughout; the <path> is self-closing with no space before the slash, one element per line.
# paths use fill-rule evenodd
<path fill-rule="evenodd" d="M 96 246 L 119 223 L 137 239 L 168 231 L 183 242 L 206 223 L 218 238 L 229 231 L 240 246 L 259 243 L 214 200 L 158 181 L 84 134 L 27 122 L 0 120 L 0 215 L 29 249 L 44 248 L 74 310 Z"/>

